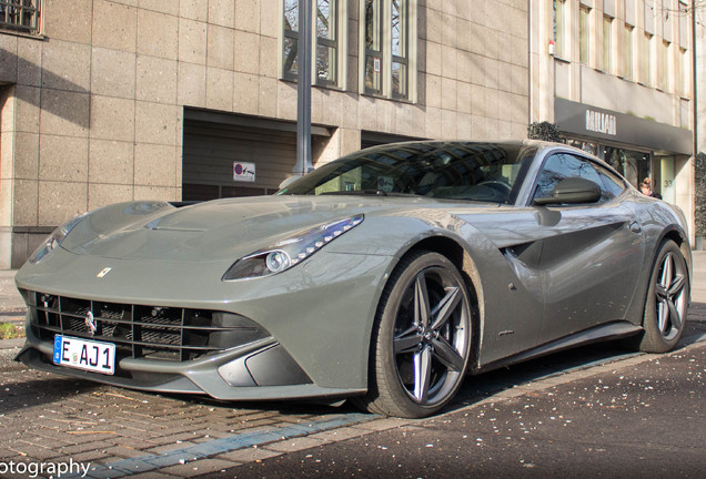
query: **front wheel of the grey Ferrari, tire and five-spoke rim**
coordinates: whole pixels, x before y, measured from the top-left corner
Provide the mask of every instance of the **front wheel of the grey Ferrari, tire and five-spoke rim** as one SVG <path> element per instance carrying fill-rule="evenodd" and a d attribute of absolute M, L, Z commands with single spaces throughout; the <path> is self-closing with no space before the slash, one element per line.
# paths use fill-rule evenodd
<path fill-rule="evenodd" d="M 471 351 L 472 308 L 463 276 L 437 253 L 404 258 L 383 292 L 373 326 L 371 412 L 420 418 L 454 397 Z"/>

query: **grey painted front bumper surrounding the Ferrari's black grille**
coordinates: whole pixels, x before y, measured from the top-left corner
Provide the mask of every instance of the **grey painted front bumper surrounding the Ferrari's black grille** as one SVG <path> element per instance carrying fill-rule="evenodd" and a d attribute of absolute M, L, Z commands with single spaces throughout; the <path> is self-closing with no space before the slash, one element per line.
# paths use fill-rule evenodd
<path fill-rule="evenodd" d="M 265 335 L 195 358 L 122 355 L 117 358 L 117 374 L 104 376 L 54 365 L 53 342 L 41 337 L 32 328 L 37 318 L 29 317 L 28 340 L 18 359 L 64 376 L 219 399 L 362 394 L 367 386 L 372 322 L 384 279 L 394 266 L 392 259 L 320 252 L 280 275 L 224 283 L 220 277 L 228 265 L 222 263 L 132 262 L 77 256 L 58 248 L 17 275 L 28 315 L 39 310 L 31 295 L 41 293 L 99 304 L 222 312 L 251 318 Z M 108 266 L 113 268 L 111 274 L 97 277 Z"/>

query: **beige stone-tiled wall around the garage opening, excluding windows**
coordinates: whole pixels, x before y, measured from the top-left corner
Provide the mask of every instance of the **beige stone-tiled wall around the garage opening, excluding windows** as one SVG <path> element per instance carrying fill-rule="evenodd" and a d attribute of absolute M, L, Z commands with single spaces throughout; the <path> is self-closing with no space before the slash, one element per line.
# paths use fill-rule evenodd
<path fill-rule="evenodd" d="M 44 0 L 42 38 L 0 32 L 0 85 L 13 85 L 0 222 L 50 227 L 109 203 L 180 200 L 184 106 L 295 120 L 280 2 Z M 313 89 L 312 121 L 335 132 L 315 164 L 357 150 L 362 130 L 525 136 L 525 0 L 420 0 L 414 102 L 359 93 L 359 9 L 347 1 L 345 89 Z"/>

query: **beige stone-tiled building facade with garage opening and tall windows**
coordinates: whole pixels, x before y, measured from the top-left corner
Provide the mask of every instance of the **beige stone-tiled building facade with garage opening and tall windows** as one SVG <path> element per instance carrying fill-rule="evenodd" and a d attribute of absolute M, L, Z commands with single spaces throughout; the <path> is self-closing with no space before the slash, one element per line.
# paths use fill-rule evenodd
<path fill-rule="evenodd" d="M 0 267 L 75 214 L 265 194 L 295 162 L 296 0 L 0 8 Z M 313 163 L 524 137 L 525 0 L 314 0 Z M 256 167 L 248 182 L 234 164 Z"/>

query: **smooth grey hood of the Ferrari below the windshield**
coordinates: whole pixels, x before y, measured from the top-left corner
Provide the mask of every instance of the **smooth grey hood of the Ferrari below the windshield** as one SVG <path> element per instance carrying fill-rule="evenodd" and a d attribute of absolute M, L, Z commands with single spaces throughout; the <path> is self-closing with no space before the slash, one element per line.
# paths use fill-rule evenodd
<path fill-rule="evenodd" d="M 414 216 L 426 206 L 438 208 L 440 203 L 422 197 L 293 195 L 219 200 L 181 208 L 169 203 L 123 203 L 89 214 L 62 247 L 122 259 L 233 261 L 356 214 Z"/>

